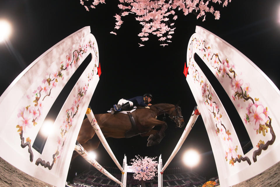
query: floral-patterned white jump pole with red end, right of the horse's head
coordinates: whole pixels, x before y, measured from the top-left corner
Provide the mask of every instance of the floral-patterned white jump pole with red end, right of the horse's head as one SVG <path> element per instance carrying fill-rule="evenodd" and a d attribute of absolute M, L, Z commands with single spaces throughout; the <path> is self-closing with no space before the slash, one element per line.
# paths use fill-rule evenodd
<path fill-rule="evenodd" d="M 180 138 L 180 140 L 178 141 L 175 149 L 173 150 L 173 152 L 171 153 L 169 159 L 167 160 L 167 162 L 165 163 L 165 165 L 162 167 L 161 171 L 158 173 L 163 174 L 164 170 L 167 168 L 167 166 L 169 165 L 169 163 L 171 162 L 171 160 L 174 158 L 174 156 L 177 154 L 178 150 L 181 148 L 181 146 L 183 145 L 185 139 L 187 138 L 188 134 L 190 133 L 190 130 L 192 129 L 193 125 L 195 124 L 195 121 L 197 120 L 198 115 L 200 115 L 199 110 L 197 108 L 197 106 L 195 106 L 194 111 L 192 112 L 192 115 L 190 117 L 190 120 Z M 160 186 L 159 186 L 160 187 Z"/>

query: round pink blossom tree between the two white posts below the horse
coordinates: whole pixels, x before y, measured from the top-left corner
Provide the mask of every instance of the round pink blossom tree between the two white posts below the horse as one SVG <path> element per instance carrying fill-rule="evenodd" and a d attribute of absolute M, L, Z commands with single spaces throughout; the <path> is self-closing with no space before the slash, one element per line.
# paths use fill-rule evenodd
<path fill-rule="evenodd" d="M 131 169 L 134 171 L 133 177 L 139 181 L 147 181 L 153 179 L 157 172 L 157 161 L 156 157 L 140 157 L 135 156 L 134 159 L 131 159 L 130 164 L 132 164 Z"/>

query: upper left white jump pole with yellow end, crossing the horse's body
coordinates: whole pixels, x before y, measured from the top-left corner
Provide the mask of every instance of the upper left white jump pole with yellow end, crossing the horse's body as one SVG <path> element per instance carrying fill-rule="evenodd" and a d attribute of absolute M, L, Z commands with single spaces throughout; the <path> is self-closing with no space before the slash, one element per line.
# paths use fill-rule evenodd
<path fill-rule="evenodd" d="M 118 162 L 118 160 L 116 159 L 114 153 L 112 152 L 110 146 L 108 145 L 104 135 L 102 134 L 102 131 L 92 113 L 92 111 L 90 110 L 90 108 L 88 108 L 86 115 L 88 117 L 88 120 L 90 120 L 90 124 L 92 125 L 93 129 L 95 130 L 95 133 L 97 134 L 97 136 L 99 137 L 101 143 L 103 144 L 104 148 L 106 149 L 106 151 L 109 153 L 109 155 L 111 156 L 111 158 L 113 159 L 113 161 L 115 162 L 115 164 L 117 165 L 117 167 L 120 169 L 120 171 L 122 173 L 124 173 L 124 169 L 122 169 L 120 163 Z"/>

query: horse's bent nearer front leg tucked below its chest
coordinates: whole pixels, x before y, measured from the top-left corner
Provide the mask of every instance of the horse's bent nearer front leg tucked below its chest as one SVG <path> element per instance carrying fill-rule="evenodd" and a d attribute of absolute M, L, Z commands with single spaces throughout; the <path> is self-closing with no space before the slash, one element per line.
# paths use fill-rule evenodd
<path fill-rule="evenodd" d="M 165 136 L 164 131 L 167 129 L 167 123 L 152 118 L 150 120 L 150 124 L 153 126 L 161 125 L 160 131 L 158 131 L 156 134 L 151 134 L 148 138 L 147 146 L 154 146 L 159 144 L 162 138 Z"/>

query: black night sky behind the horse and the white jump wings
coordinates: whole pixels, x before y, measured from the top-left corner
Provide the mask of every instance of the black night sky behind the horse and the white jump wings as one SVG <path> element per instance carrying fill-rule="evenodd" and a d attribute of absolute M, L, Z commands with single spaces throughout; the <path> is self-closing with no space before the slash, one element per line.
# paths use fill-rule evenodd
<path fill-rule="evenodd" d="M 120 98 L 132 98 L 150 92 L 155 103 L 176 104 L 182 101 L 181 108 L 185 122 L 188 121 L 193 107 L 196 105 L 188 83 L 183 75 L 184 63 L 187 60 L 186 51 L 190 36 L 199 25 L 221 37 L 241 53 L 252 60 L 280 88 L 279 79 L 279 30 L 280 22 L 277 1 L 237 1 L 232 0 L 227 7 L 216 5 L 220 10 L 220 20 L 208 14 L 206 20 L 196 20 L 194 14 L 184 16 L 177 11 L 175 33 L 169 46 L 159 46 L 157 37 L 150 39 L 138 47 L 140 39 L 137 36 L 141 25 L 132 15 L 122 18 L 124 23 L 117 30 L 118 35 L 109 34 L 114 28 L 115 18 L 119 13 L 118 1 L 105 1 L 96 9 L 87 12 L 79 4 L 79 0 L 61 1 L 28 1 L 4 0 L 0 2 L 0 18 L 9 20 L 13 27 L 10 45 L 0 44 L 0 93 L 38 56 L 60 40 L 85 27 L 91 27 L 99 49 L 99 62 L 102 74 L 95 93 L 90 102 L 94 113 L 104 113 Z M 48 117 L 58 114 L 68 93 L 76 83 L 86 62 L 71 78 L 67 88 L 63 90 L 55 102 L 55 107 Z M 216 92 L 221 93 L 220 99 L 237 131 L 241 146 L 249 141 L 245 127 L 233 107 L 230 99 L 221 89 L 210 70 L 203 63 L 200 67 L 207 75 Z M 167 161 L 181 136 L 184 127 L 175 128 L 174 123 L 167 120 L 168 129 L 160 145 L 146 147 L 147 138 L 135 136 L 129 139 L 107 138 L 119 162 L 124 154 L 130 160 L 134 155 L 159 156 L 162 154 L 163 163 Z M 241 127 L 240 127 L 241 126 Z M 216 166 L 206 129 L 201 117 L 191 130 L 185 143 L 171 162 L 170 167 L 182 167 L 184 150 L 195 148 L 201 155 L 200 164 L 192 168 L 202 176 L 210 178 L 217 176 Z M 103 166 L 114 166 L 108 153 L 102 145 L 96 150 L 97 161 Z M 88 169 L 88 164 L 77 158 L 71 172 Z"/>

